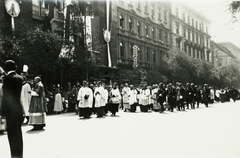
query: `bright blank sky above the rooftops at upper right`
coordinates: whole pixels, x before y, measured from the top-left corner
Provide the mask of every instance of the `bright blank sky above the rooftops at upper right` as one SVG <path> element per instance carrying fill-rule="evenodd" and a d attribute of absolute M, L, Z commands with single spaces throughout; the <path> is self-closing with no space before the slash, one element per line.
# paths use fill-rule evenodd
<path fill-rule="evenodd" d="M 231 22 L 230 0 L 173 0 L 183 1 L 212 21 L 210 35 L 215 42 L 232 42 L 240 48 L 239 22 Z"/>

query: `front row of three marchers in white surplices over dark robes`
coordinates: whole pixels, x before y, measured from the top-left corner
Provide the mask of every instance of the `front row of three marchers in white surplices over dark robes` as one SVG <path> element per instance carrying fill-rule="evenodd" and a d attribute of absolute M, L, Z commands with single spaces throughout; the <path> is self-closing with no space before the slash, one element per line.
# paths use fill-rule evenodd
<path fill-rule="evenodd" d="M 78 96 L 79 117 L 90 118 L 95 113 L 97 117 L 103 117 L 108 111 L 116 116 L 121 101 L 121 94 L 117 83 L 111 90 L 99 81 L 94 89 L 89 88 L 88 82 L 83 81 Z"/>

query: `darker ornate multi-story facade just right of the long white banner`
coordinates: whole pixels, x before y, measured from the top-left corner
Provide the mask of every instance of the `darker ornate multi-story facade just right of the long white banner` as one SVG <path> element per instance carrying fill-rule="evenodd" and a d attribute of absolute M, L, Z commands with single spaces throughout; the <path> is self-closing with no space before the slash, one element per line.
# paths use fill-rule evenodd
<path fill-rule="evenodd" d="M 149 67 L 160 61 L 170 48 L 170 19 L 167 3 L 158 1 L 112 1 L 112 60 L 115 67 Z"/>

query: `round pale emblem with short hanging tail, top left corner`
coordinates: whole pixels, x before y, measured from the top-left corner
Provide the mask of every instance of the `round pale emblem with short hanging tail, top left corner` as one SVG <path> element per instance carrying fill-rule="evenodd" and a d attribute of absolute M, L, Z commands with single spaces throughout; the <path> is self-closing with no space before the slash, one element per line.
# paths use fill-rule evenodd
<path fill-rule="evenodd" d="M 15 0 L 7 0 L 5 2 L 5 8 L 7 13 L 12 17 L 11 25 L 12 29 L 15 30 L 14 18 L 17 17 L 20 13 L 20 6 Z"/>

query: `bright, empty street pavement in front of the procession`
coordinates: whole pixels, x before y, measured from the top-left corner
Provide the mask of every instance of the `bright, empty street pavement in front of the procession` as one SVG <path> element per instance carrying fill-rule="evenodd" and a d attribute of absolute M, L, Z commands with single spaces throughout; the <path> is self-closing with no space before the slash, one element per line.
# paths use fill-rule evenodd
<path fill-rule="evenodd" d="M 43 131 L 23 126 L 24 158 L 239 158 L 239 122 L 240 101 L 163 114 L 51 115 Z M 0 135 L 0 158 L 8 157 Z"/>

